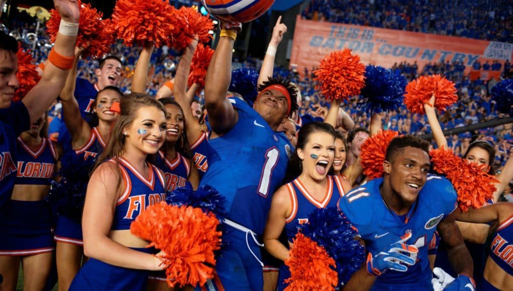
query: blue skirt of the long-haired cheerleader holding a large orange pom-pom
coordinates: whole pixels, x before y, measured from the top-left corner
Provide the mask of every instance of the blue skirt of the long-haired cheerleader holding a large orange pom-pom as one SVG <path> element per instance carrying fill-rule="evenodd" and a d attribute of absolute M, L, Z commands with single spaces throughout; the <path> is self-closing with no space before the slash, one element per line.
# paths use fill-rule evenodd
<path fill-rule="evenodd" d="M 154 248 L 131 249 L 147 254 L 154 251 Z M 148 274 L 147 270 L 113 266 L 91 258 L 78 271 L 69 290 L 146 290 Z"/>

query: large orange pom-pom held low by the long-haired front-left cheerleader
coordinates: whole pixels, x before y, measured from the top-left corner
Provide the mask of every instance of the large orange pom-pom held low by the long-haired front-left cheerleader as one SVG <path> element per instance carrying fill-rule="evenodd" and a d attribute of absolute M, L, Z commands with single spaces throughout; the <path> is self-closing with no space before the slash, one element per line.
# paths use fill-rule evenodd
<path fill-rule="evenodd" d="M 130 231 L 148 246 L 164 251 L 161 257 L 170 287 L 176 284 L 203 286 L 214 277 L 214 251 L 221 247 L 219 220 L 199 208 L 165 202 L 146 208 L 130 225 Z"/>

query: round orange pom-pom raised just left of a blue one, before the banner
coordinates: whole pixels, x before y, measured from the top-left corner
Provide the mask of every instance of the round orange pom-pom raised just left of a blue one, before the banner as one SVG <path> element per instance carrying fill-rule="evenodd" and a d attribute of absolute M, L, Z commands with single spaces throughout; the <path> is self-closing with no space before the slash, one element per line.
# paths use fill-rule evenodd
<path fill-rule="evenodd" d="M 331 52 L 313 73 L 313 80 L 318 81 L 315 88 L 328 100 L 349 99 L 359 95 L 365 86 L 365 66 L 360 63 L 360 56 L 351 54 L 350 49 Z"/>

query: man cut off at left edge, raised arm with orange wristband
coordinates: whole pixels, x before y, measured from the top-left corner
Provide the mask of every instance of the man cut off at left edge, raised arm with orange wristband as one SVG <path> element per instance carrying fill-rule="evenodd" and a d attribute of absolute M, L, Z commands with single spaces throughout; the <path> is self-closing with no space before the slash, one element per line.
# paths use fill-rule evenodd
<path fill-rule="evenodd" d="M 17 41 L 0 32 L 0 208 L 10 198 L 16 176 L 14 147 L 16 137 L 30 128 L 52 105 L 64 87 L 71 68 L 78 17 L 76 1 L 54 0 L 55 8 L 62 16 L 59 33 L 51 50 L 51 58 L 41 80 L 21 102 L 11 102 L 19 83 L 16 78 Z"/>

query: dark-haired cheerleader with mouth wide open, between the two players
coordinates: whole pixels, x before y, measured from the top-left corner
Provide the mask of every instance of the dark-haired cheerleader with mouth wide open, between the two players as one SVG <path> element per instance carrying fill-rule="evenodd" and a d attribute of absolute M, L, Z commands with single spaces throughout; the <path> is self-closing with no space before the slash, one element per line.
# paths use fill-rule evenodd
<path fill-rule="evenodd" d="M 308 222 L 307 217 L 315 207 L 335 207 L 340 197 L 351 189 L 347 180 L 328 175 L 335 157 L 335 135 L 329 124 L 321 122 L 304 124 L 299 131 L 298 147 L 288 167 L 288 171 L 297 171 L 292 175 L 297 178 L 274 193 L 264 231 L 265 249 L 282 261 L 288 259 L 292 238 L 298 227 Z M 284 230 L 288 245 L 279 240 Z M 286 287 L 284 280 L 289 276 L 288 268 L 282 264 L 279 290 Z"/>

